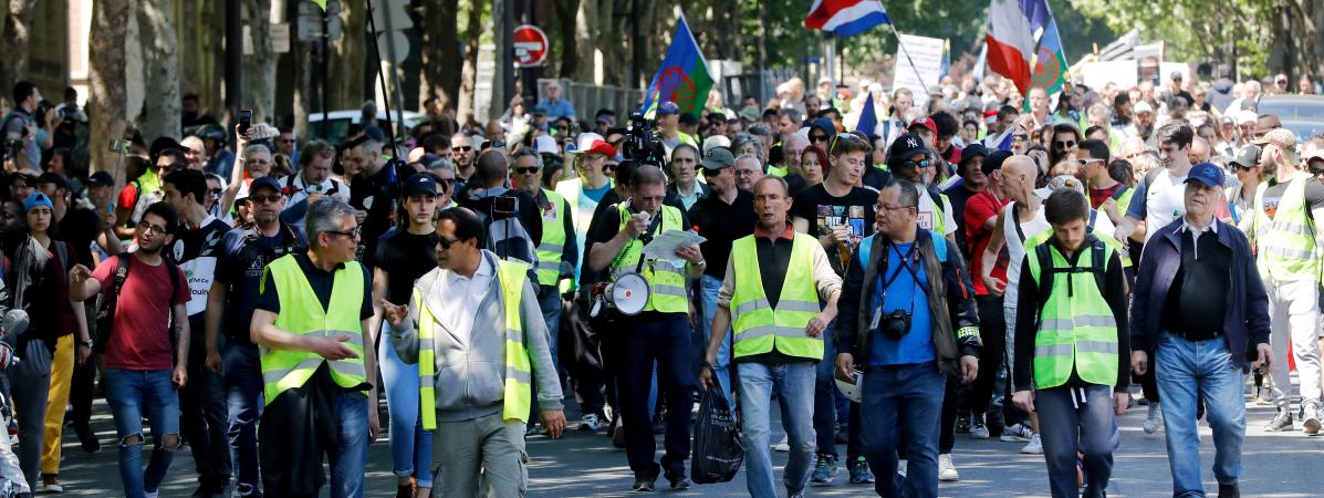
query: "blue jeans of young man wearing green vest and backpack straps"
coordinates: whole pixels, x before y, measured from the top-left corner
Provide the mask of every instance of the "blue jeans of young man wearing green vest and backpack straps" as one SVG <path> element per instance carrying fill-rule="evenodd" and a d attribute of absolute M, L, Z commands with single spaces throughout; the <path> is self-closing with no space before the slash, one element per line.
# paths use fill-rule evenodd
<path fill-rule="evenodd" d="M 1043 461 L 1049 466 L 1049 490 L 1054 498 L 1103 497 L 1112 477 L 1112 450 L 1117 449 L 1117 419 L 1112 411 L 1111 385 L 1054 387 L 1034 391 L 1039 413 Z M 1190 416 L 1196 420 L 1194 413 Z M 1088 487 L 1076 487 L 1076 453 Z"/>

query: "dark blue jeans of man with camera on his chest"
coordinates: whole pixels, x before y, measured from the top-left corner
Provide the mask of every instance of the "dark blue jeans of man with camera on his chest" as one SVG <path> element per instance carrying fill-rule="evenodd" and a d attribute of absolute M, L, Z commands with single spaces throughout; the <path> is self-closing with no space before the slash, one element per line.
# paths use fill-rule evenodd
<path fill-rule="evenodd" d="M 932 362 L 865 372 L 859 409 L 869 424 L 863 424 L 861 442 L 879 497 L 937 495 L 937 425 L 947 375 Z M 895 470 L 896 446 L 903 442 L 904 478 Z"/>

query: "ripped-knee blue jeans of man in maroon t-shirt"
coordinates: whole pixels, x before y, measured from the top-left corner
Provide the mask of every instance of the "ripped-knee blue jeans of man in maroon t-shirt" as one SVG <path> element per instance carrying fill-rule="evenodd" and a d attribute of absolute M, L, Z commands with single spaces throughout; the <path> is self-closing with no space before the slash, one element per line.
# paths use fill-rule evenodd
<path fill-rule="evenodd" d="M 124 495 L 143 498 L 166 479 L 179 449 L 179 396 L 171 371 L 106 368 L 106 401 L 119 436 L 119 479 Z M 143 470 L 143 416 L 152 426 L 152 460 Z M 169 444 L 167 446 L 167 442 Z"/>

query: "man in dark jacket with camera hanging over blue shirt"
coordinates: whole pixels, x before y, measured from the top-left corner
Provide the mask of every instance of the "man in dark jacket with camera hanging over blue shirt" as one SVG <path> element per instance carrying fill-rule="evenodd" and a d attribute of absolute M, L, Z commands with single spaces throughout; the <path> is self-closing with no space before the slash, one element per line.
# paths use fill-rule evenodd
<path fill-rule="evenodd" d="M 919 228 L 919 189 L 896 180 L 878 195 L 878 233 L 851 257 L 838 301 L 837 376 L 863 379 L 861 442 L 882 497 L 937 495 L 937 438 L 949 374 L 978 374 L 978 311 L 961 252 Z M 904 482 L 891 478 L 906 438 Z"/>

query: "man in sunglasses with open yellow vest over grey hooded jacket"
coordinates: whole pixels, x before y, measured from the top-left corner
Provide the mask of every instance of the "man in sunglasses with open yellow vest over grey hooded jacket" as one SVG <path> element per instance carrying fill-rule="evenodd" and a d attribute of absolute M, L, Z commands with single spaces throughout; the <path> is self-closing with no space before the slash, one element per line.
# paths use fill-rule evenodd
<path fill-rule="evenodd" d="M 441 212 L 437 268 L 409 306 L 383 302 L 396 352 L 418 363 L 424 430 L 434 430 L 433 497 L 520 497 L 532 385 L 543 426 L 565 430 L 561 385 L 527 264 L 479 249 L 486 228 L 465 208 Z"/>

